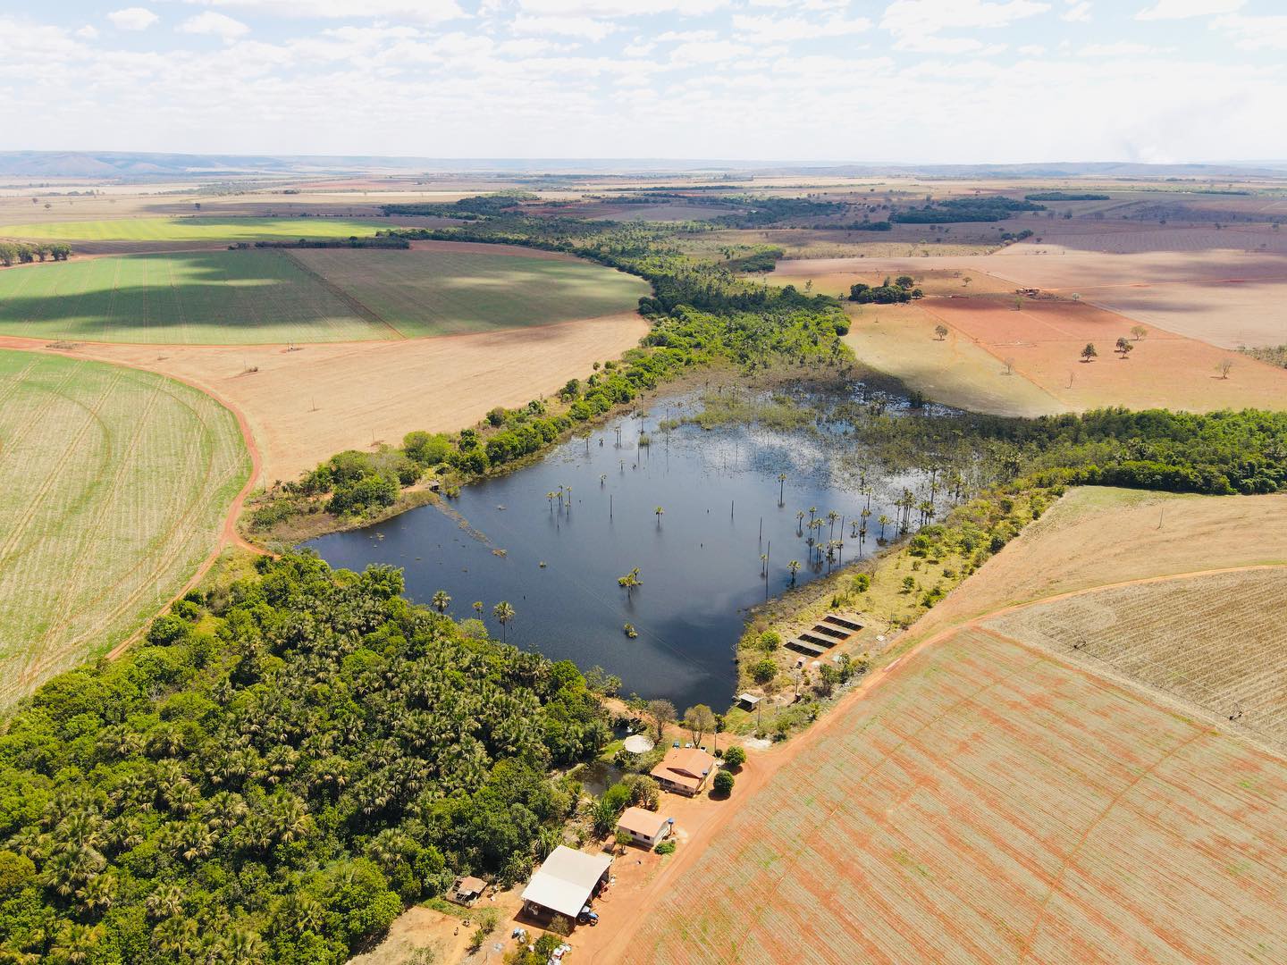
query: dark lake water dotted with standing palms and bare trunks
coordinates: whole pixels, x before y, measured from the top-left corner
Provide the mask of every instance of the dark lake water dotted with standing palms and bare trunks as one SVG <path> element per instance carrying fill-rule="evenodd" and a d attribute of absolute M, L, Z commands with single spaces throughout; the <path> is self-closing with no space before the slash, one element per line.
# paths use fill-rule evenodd
<path fill-rule="evenodd" d="M 658 403 L 533 466 L 465 486 L 449 507 L 468 528 L 425 506 L 308 546 L 337 567 L 400 566 L 413 600 L 427 603 L 444 589 L 457 619 L 475 616 L 471 605 L 480 600 L 494 637 L 582 669 L 598 664 L 622 677 L 624 692 L 668 697 L 681 712 L 696 703 L 722 709 L 736 683 L 734 650 L 745 609 L 790 584 L 790 560 L 802 564 L 799 583 L 826 573 L 817 553 L 808 565 L 810 507 L 824 521 L 829 511 L 844 516 L 834 535 L 843 533 L 843 558 L 851 561 L 875 551 L 876 519 L 893 517 L 892 499 L 910 481 L 887 480 L 876 489 L 860 547 L 848 521 L 858 519 L 867 497 L 839 477 L 824 443 L 754 426 L 658 430 L 667 413 L 692 404 Z M 641 446 L 645 428 L 651 444 Z M 782 504 L 779 472 L 788 473 Z M 561 507 L 546 495 L 560 486 L 570 488 Z M 824 544 L 830 533 L 824 525 Z M 627 593 L 616 578 L 636 566 L 642 584 Z M 501 600 L 516 611 L 507 628 L 492 615 Z M 625 636 L 627 623 L 637 638 Z"/>

